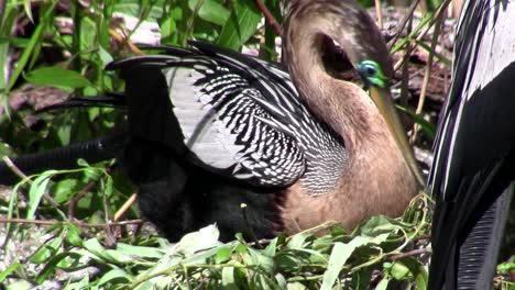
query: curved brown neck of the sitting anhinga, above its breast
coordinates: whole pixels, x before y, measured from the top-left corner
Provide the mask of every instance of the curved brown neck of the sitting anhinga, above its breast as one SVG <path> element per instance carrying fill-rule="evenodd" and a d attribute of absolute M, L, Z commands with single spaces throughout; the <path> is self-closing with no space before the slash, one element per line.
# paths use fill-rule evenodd
<path fill-rule="evenodd" d="M 384 121 L 370 97 L 357 85 L 336 79 L 325 70 L 322 35 L 309 30 L 302 34 L 285 40 L 283 52 L 293 81 L 309 109 L 343 138 L 350 155 L 369 144 L 371 137 L 387 137 L 386 126 L 377 126 Z"/>

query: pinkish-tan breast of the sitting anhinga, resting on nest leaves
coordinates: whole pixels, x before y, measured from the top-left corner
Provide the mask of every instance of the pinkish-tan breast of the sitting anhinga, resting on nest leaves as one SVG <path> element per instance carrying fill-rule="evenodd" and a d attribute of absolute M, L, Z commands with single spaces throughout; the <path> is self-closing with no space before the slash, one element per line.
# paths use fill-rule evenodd
<path fill-rule="evenodd" d="M 328 221 L 350 231 L 373 215 L 396 217 L 403 213 L 417 193 L 417 183 L 393 141 L 382 142 L 382 146 L 369 145 L 366 153 L 351 157 L 330 192 L 309 194 L 302 181 L 284 191 L 280 210 L 286 233 Z"/>

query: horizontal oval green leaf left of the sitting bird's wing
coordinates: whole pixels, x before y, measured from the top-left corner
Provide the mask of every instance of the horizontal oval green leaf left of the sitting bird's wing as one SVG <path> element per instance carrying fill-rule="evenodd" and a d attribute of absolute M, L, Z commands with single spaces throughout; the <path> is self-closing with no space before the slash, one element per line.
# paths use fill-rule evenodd
<path fill-rule="evenodd" d="M 79 72 L 61 67 L 42 67 L 25 75 L 25 79 L 37 86 L 52 86 L 56 88 L 84 88 L 91 83 Z"/>

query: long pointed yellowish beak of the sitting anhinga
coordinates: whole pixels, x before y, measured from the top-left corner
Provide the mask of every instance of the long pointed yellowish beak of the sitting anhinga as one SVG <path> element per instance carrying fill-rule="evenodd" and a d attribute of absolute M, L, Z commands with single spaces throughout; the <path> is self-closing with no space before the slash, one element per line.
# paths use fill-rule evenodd
<path fill-rule="evenodd" d="M 372 86 L 370 88 L 370 94 L 375 105 L 377 107 L 380 113 L 383 115 L 383 119 L 386 122 L 386 125 L 388 126 L 392 136 L 397 143 L 397 146 L 401 148 L 406 164 L 408 165 L 409 169 L 412 170 L 420 187 L 424 187 L 424 179 L 418 169 L 417 161 L 413 156 L 412 147 L 407 142 L 403 125 L 401 124 L 398 115 L 395 112 L 390 90 Z"/>

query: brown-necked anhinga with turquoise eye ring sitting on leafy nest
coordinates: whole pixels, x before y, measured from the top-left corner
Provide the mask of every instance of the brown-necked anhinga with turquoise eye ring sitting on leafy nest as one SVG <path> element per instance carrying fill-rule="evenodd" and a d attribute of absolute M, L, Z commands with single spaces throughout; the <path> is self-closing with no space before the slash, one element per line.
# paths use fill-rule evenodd
<path fill-rule="evenodd" d="M 354 1 L 291 0 L 276 65 L 210 45 L 108 65 L 125 81 L 122 167 L 172 239 L 399 215 L 420 177 L 393 109 L 388 51 Z M 357 69 L 372 99 L 340 79 Z M 418 178 L 418 182 L 417 182 Z M 240 204 L 246 203 L 246 219 Z"/>

